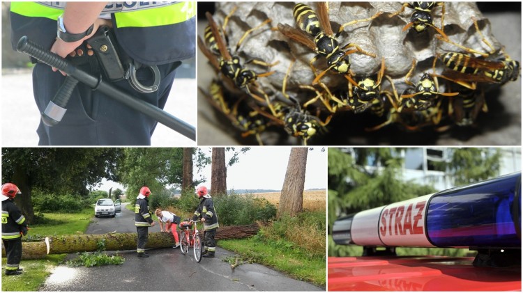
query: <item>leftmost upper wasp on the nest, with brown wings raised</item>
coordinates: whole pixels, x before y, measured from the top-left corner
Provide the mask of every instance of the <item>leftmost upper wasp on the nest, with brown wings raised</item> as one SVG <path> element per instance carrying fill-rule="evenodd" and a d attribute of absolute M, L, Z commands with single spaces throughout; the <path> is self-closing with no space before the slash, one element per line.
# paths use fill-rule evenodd
<path fill-rule="evenodd" d="M 209 59 L 214 68 L 216 68 L 218 71 L 222 72 L 223 75 L 231 79 L 237 88 L 245 88 L 245 90 L 247 90 L 247 92 L 250 93 L 250 88 L 248 87 L 248 85 L 255 84 L 255 81 L 258 77 L 267 77 L 274 73 L 272 71 L 257 74 L 253 70 L 243 68 L 240 58 L 238 56 L 233 56 L 229 52 L 229 49 L 227 49 L 227 44 L 224 40 L 225 36 L 222 36 L 225 29 L 220 30 L 218 24 L 216 24 L 216 22 L 214 21 L 211 13 L 206 13 L 205 15 L 209 20 L 209 29 L 206 29 L 205 33 L 207 45 L 204 44 L 202 38 L 198 37 L 198 47 L 202 51 L 202 53 L 204 53 L 204 55 Z M 255 31 L 256 29 L 261 28 L 261 26 L 268 24 L 268 22 L 271 22 L 271 19 L 266 19 L 266 21 L 259 24 L 259 26 L 256 26 L 255 28 L 246 31 L 241 37 L 241 39 L 238 41 L 238 44 L 236 45 L 236 50 L 240 47 L 241 42 L 245 40 L 248 34 L 252 33 L 252 31 Z M 211 33 L 209 33 L 209 30 Z M 264 65 L 267 67 L 271 67 L 276 64 L 268 64 L 263 61 L 255 60 L 249 61 L 248 63 L 250 62 L 259 65 Z M 255 98 L 257 97 L 258 100 L 263 100 L 261 97 L 257 95 L 252 96 Z"/>

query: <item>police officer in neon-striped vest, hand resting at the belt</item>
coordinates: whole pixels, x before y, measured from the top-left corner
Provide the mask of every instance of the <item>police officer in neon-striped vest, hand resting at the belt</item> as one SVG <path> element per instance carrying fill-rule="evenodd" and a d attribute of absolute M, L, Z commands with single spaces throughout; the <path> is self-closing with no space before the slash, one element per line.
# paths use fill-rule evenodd
<path fill-rule="evenodd" d="M 98 26 L 111 26 L 120 55 L 139 68 L 136 78 L 140 84 L 148 86 L 155 81 L 151 66 L 157 65 L 160 74 L 158 90 L 153 93 L 139 93 L 127 79 L 113 81 L 113 86 L 160 109 L 167 102 L 176 68 L 182 60 L 195 56 L 195 2 L 12 2 L 10 9 L 13 48 L 27 35 L 106 81 L 100 63 L 93 61 L 96 54 L 84 40 Z M 35 65 L 33 95 L 40 112 L 45 111 L 64 79 L 43 63 Z M 157 124 L 84 84 L 77 84 L 66 109 L 57 125 L 50 127 L 40 121 L 39 145 L 150 145 Z"/>

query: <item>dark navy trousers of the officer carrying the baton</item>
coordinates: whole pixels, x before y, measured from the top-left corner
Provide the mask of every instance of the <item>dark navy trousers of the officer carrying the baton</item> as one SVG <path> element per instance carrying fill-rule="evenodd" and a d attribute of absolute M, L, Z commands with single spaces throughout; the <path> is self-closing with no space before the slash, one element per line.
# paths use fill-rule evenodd
<path fill-rule="evenodd" d="M 138 93 L 123 79 L 113 84 L 122 91 L 163 109 L 181 62 L 158 65 L 161 81 L 154 93 Z M 79 68 L 90 72 L 89 64 Z M 97 75 L 97 74 L 95 74 Z M 37 63 L 33 69 L 33 95 L 40 113 L 45 111 L 65 77 L 50 66 Z M 137 79 L 153 84 L 149 68 L 137 70 Z M 66 106 L 61 122 L 49 127 L 40 121 L 38 145 L 151 145 L 157 121 L 128 106 L 78 83 Z"/>

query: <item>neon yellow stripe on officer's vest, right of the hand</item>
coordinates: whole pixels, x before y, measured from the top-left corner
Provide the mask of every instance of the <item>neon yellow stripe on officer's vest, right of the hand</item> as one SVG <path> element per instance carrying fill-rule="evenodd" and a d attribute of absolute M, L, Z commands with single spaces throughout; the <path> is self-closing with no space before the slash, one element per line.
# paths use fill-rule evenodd
<path fill-rule="evenodd" d="M 114 13 L 116 27 L 166 26 L 185 22 L 196 15 L 194 1 L 173 3 L 160 8 Z"/>

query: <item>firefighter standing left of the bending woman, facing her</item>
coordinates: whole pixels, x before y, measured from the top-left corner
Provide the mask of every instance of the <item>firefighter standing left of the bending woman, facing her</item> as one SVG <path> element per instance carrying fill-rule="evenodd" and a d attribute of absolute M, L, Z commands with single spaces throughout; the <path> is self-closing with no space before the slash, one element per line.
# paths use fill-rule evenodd
<path fill-rule="evenodd" d="M 145 245 L 147 244 L 149 227 L 154 226 L 153 217 L 149 213 L 148 201 L 150 195 L 149 187 L 142 187 L 136 198 L 135 225 L 138 233 L 136 252 L 139 258 L 149 258 L 149 255 L 145 252 Z"/>

